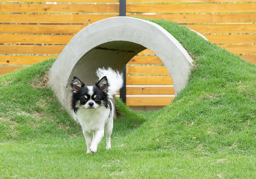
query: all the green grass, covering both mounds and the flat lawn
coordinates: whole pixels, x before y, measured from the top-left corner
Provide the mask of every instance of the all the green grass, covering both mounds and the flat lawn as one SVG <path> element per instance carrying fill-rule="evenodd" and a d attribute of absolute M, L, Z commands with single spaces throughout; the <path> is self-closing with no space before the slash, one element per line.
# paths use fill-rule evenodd
<path fill-rule="evenodd" d="M 150 20 L 150 19 L 148 19 Z M 155 113 L 117 101 L 112 149 L 86 155 L 80 126 L 47 86 L 54 59 L 0 77 L 0 178 L 256 178 L 256 66 L 185 27 L 150 20 L 194 67 Z"/>

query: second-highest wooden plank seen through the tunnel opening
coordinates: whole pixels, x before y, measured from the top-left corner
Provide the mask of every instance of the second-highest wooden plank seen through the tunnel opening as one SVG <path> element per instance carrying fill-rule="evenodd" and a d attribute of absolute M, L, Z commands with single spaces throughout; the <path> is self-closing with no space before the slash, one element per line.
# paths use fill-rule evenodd
<path fill-rule="evenodd" d="M 128 65 L 134 64 L 164 64 L 157 56 L 134 56 L 128 63 Z"/>

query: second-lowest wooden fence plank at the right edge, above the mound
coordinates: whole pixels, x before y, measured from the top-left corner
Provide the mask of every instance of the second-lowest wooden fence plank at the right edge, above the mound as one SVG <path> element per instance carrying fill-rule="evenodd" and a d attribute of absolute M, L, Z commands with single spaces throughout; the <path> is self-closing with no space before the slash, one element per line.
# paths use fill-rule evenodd
<path fill-rule="evenodd" d="M 234 54 L 256 53 L 256 45 L 219 45 Z"/>

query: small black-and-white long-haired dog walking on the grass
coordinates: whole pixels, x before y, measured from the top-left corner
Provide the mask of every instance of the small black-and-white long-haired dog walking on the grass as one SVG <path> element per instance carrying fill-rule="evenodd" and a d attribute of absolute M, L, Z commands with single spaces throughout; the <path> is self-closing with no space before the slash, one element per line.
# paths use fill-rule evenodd
<path fill-rule="evenodd" d="M 112 68 L 98 68 L 95 86 L 85 86 L 77 77 L 70 83 L 71 110 L 80 123 L 87 146 L 87 153 L 95 153 L 106 133 L 107 147 L 111 148 L 114 106 L 111 99 L 123 86 L 123 74 Z"/>

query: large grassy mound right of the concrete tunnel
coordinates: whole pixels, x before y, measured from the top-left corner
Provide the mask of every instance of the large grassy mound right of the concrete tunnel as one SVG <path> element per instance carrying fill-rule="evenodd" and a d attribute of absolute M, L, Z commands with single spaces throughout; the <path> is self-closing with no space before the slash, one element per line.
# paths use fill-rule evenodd
<path fill-rule="evenodd" d="M 177 24 L 164 27 L 194 57 L 186 88 L 134 134 L 135 149 L 171 147 L 194 156 L 256 151 L 256 66 Z M 144 145 L 146 143 L 146 145 Z"/>

